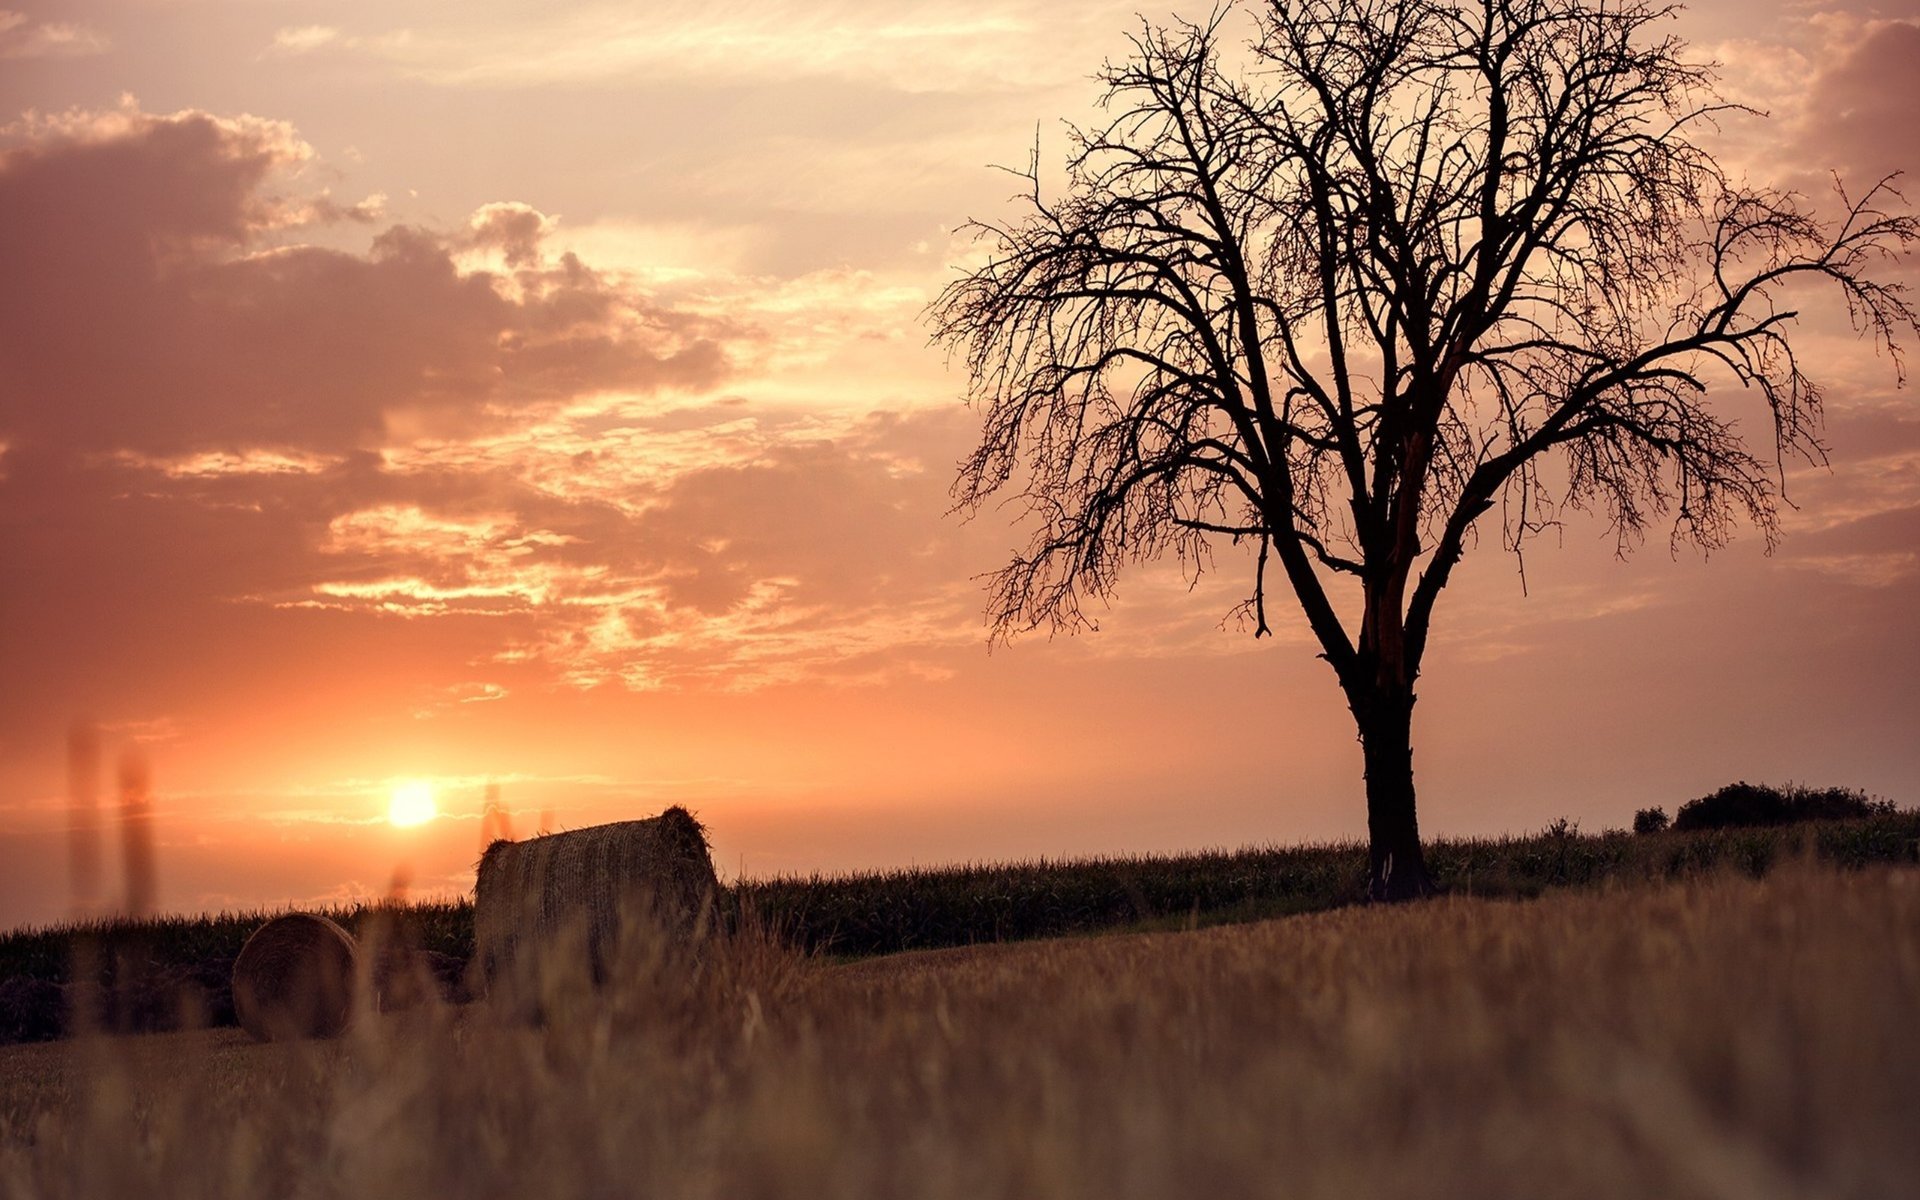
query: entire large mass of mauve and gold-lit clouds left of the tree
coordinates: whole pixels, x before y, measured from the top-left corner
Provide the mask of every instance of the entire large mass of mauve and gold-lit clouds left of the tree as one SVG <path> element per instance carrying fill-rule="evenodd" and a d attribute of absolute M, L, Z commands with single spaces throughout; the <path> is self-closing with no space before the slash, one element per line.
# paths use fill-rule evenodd
<path fill-rule="evenodd" d="M 313 246 L 363 215 L 317 205 L 313 150 L 253 117 L 129 102 L 6 138 L 0 555 L 38 580 L 10 620 L 46 647 L 21 695 L 194 657 L 321 670 L 317 645 L 396 626 L 434 647 L 413 712 L 925 678 L 979 645 L 941 520 L 958 413 L 781 378 L 910 321 L 899 286 L 664 300 L 516 202 Z"/>

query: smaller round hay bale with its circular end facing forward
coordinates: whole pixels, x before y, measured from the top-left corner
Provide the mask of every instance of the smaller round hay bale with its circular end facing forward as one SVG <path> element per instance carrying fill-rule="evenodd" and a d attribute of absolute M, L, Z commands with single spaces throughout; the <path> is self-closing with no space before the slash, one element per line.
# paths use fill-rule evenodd
<path fill-rule="evenodd" d="M 276 916 L 234 960 L 234 1016 L 257 1041 L 336 1037 L 353 1012 L 353 935 L 311 912 Z"/>

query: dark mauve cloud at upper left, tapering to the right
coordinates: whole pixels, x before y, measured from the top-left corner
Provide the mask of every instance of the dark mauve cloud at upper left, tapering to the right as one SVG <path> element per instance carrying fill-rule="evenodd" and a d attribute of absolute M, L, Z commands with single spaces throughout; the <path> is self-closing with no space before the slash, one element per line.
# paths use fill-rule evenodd
<path fill-rule="evenodd" d="M 659 309 L 540 213 L 394 227 L 367 253 L 276 246 L 311 202 L 269 192 L 307 150 L 282 125 L 136 111 L 27 131 L 0 156 L 0 438 L 12 453 L 371 445 L 593 388 L 707 388 L 718 323 Z M 365 213 L 361 213 L 365 215 Z M 467 271 L 470 246 L 513 273 Z"/>

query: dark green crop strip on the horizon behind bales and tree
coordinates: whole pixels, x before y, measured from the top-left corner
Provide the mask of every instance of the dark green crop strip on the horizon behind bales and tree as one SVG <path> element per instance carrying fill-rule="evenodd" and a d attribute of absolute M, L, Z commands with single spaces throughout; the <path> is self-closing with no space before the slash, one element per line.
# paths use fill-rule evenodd
<path fill-rule="evenodd" d="M 1436 841 L 1428 862 L 1465 897 L 1536 897 L 1551 889 L 1684 879 L 1814 856 L 1847 868 L 1916 860 L 1920 812 L 1891 804 L 1860 820 L 1628 835 L 1582 833 L 1555 822 L 1542 833 Z M 1108 933 L 1183 929 L 1354 902 L 1365 847 L 1252 847 L 1200 854 L 950 866 L 854 876 L 737 881 L 724 920 L 780 929 L 808 952 L 860 958 L 900 950 Z M 83 996 L 96 1023 L 119 1031 L 180 1025 L 184 1012 L 232 1023 L 234 956 L 269 914 L 242 912 L 102 922 L 0 935 L 0 1043 L 60 1037 Z M 459 991 L 472 952 L 472 904 L 365 906 L 332 916 L 367 941 L 374 925 L 434 960 Z M 90 983 L 75 989 L 77 962 Z M 92 1002 L 92 1000 L 88 1000 Z"/>

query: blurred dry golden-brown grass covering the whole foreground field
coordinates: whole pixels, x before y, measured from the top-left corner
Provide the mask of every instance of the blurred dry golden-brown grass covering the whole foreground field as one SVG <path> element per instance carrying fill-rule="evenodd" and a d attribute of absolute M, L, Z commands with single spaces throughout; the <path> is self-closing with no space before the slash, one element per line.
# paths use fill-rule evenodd
<path fill-rule="evenodd" d="M 0 1052 L 8 1196 L 1899 1196 L 1920 872 L 1793 866 L 822 966 L 549 1021 Z"/>

